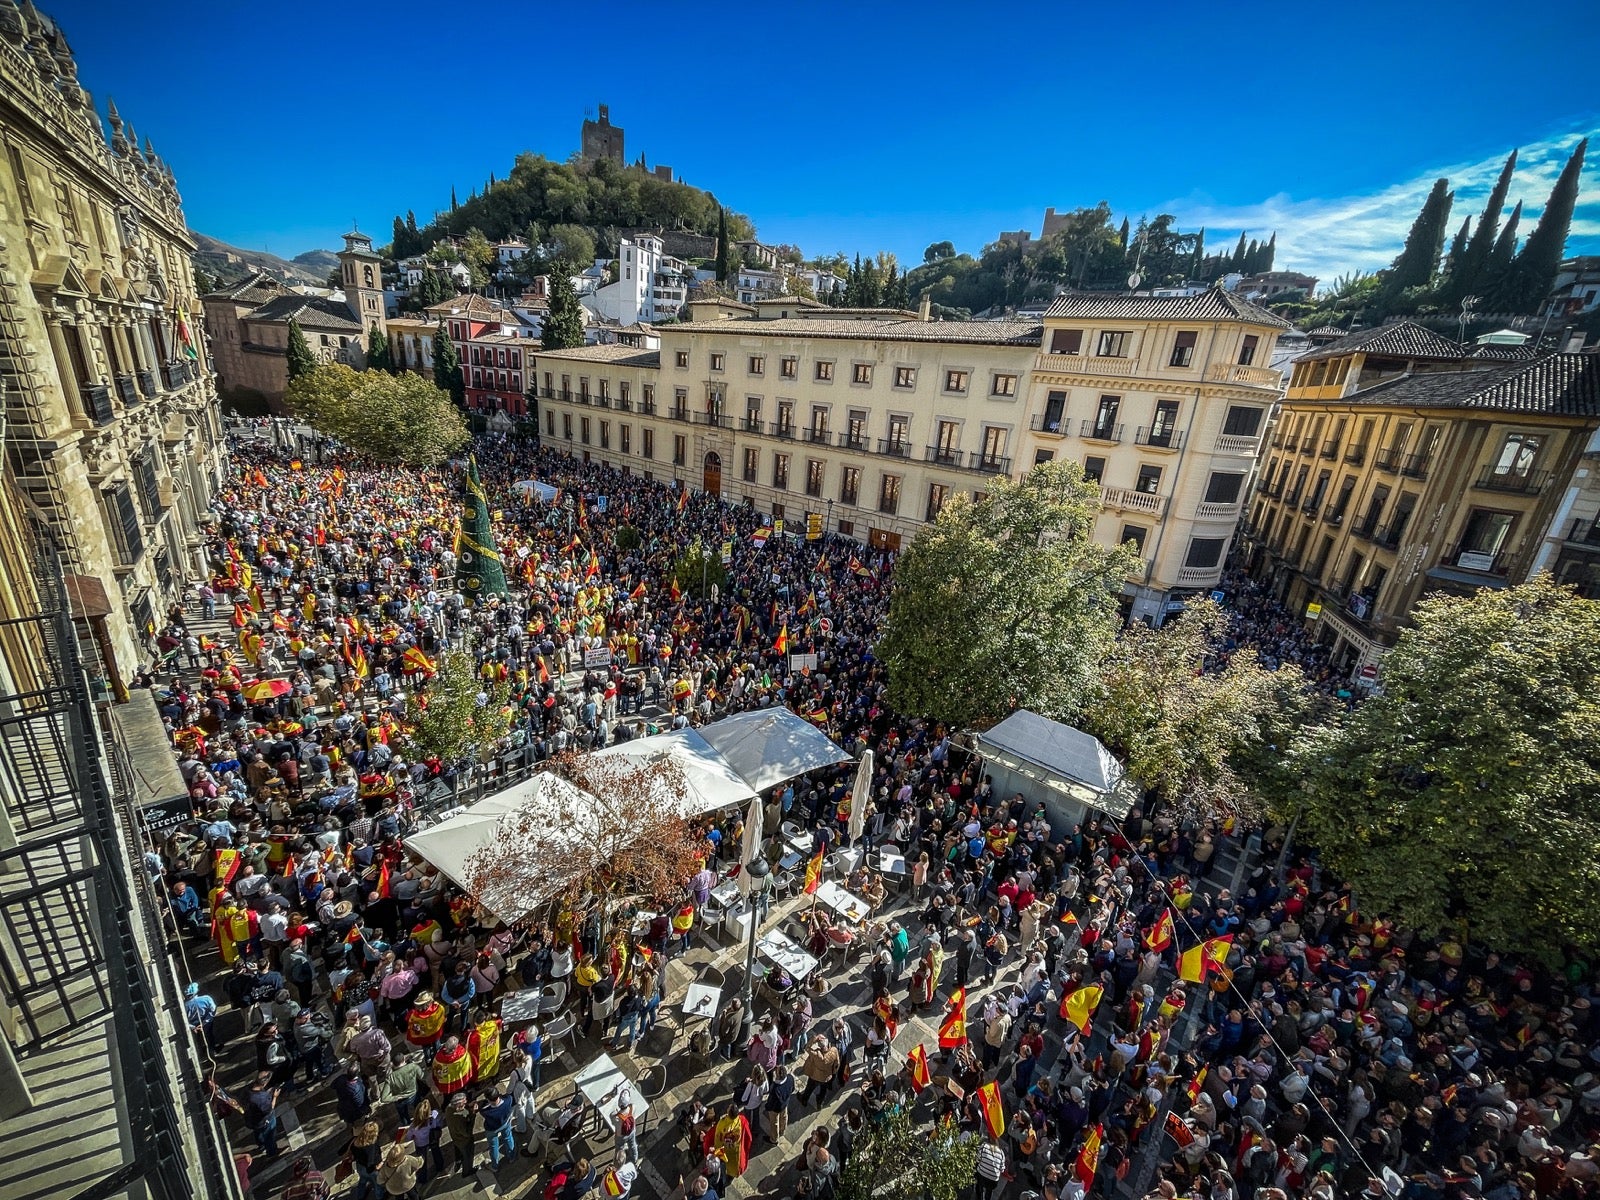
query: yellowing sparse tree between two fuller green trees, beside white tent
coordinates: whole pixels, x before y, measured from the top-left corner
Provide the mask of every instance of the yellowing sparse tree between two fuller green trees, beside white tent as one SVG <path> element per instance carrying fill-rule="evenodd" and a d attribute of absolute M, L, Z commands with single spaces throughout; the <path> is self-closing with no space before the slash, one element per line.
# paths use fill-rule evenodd
<path fill-rule="evenodd" d="M 1202 672 L 1226 632 L 1227 614 L 1210 600 L 1190 603 L 1160 629 L 1128 626 L 1078 717 L 1147 794 L 1202 814 L 1250 806 L 1234 758 L 1261 741 L 1283 691 L 1306 683 L 1299 669 L 1267 670 L 1248 650 L 1221 670 Z"/>

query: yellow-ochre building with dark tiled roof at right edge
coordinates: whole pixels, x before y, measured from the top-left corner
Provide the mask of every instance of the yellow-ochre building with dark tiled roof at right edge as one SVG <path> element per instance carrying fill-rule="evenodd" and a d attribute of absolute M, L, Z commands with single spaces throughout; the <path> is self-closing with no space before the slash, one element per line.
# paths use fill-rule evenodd
<path fill-rule="evenodd" d="M 1250 570 L 1370 680 L 1424 595 L 1582 573 L 1597 427 L 1595 355 L 1469 349 L 1408 322 L 1334 341 L 1294 363 Z"/>

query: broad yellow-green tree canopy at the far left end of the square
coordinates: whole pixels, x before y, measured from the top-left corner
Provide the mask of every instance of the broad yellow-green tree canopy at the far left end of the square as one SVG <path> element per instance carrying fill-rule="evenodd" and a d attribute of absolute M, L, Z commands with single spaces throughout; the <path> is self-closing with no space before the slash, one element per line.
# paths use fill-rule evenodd
<path fill-rule="evenodd" d="M 450 397 L 419 374 L 318 366 L 291 379 L 285 400 L 320 434 L 379 462 L 427 467 L 467 442 Z"/>

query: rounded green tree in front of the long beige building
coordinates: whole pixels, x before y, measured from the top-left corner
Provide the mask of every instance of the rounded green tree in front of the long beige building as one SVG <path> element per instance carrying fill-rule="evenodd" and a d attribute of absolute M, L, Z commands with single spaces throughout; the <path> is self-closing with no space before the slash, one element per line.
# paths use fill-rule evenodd
<path fill-rule="evenodd" d="M 1016 707 L 1078 712 L 1139 565 L 1094 541 L 1098 510 L 1099 488 L 1058 459 L 978 502 L 957 494 L 923 526 L 894 566 L 875 651 L 894 707 L 979 728 Z"/>

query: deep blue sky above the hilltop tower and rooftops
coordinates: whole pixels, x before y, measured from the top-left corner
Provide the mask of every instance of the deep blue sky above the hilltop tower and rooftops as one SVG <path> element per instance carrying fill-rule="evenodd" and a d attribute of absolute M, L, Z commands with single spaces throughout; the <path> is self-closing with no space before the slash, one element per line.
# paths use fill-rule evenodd
<path fill-rule="evenodd" d="M 1454 224 L 1477 213 L 1514 146 L 1531 216 L 1600 131 L 1579 0 L 43 8 L 101 110 L 115 98 L 173 166 L 189 224 L 285 256 L 352 219 L 387 238 L 518 150 L 565 158 L 600 102 L 630 160 L 808 254 L 978 253 L 1107 200 L 1210 245 L 1277 229 L 1278 266 L 1323 278 L 1386 264 L 1437 174 Z M 1600 144 L 1584 192 L 1568 253 L 1600 253 Z"/>

